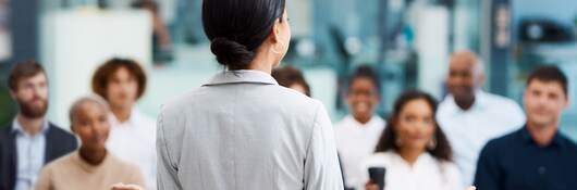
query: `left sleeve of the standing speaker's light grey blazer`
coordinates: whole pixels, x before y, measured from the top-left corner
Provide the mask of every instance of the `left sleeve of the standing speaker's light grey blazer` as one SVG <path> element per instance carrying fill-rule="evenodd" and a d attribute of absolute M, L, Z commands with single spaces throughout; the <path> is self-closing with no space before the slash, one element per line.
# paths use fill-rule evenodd
<path fill-rule="evenodd" d="M 164 126 L 162 121 L 162 113 L 158 117 L 157 131 L 157 153 L 158 153 L 158 169 L 157 169 L 157 187 L 158 190 L 176 190 L 182 189 L 179 174 L 175 166 L 173 166 L 170 150 L 164 137 Z"/>

